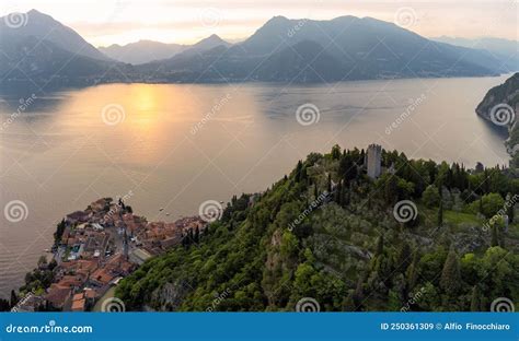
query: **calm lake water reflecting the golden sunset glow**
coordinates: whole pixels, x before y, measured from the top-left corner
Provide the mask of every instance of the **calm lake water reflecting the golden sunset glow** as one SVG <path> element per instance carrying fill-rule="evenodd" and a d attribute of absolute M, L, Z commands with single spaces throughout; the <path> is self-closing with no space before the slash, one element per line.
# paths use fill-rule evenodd
<path fill-rule="evenodd" d="M 299 158 L 335 143 L 377 142 L 470 167 L 507 164 L 503 136 L 474 113 L 506 78 L 109 84 L 36 99 L 0 95 L 0 208 L 12 200 L 27 208 L 20 222 L 0 216 L 0 295 L 50 247 L 58 220 L 101 197 L 129 196 L 136 213 L 173 221 L 196 214 L 206 200 L 264 190 Z M 27 108 L 12 115 L 20 98 Z M 302 118 L 316 122 L 298 121 L 304 104 L 314 107 L 307 105 Z"/>

